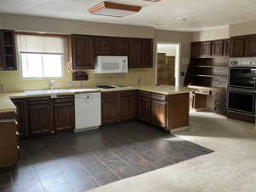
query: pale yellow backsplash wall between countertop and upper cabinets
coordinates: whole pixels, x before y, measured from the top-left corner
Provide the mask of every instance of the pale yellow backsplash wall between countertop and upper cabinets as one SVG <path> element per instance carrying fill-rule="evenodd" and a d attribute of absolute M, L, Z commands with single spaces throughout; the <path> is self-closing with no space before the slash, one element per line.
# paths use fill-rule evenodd
<path fill-rule="evenodd" d="M 83 82 L 83 87 L 95 87 L 96 84 L 154 84 L 154 68 L 131 68 L 129 73 L 96 74 L 94 70 L 84 70 L 89 73 L 89 80 Z M 0 71 L 0 84 L 5 91 L 49 89 L 49 80 L 24 80 L 20 71 Z M 55 79 L 55 88 L 67 88 L 72 81 L 72 73 L 65 70 L 62 79 Z M 80 82 L 73 82 L 73 88 L 81 87 Z"/>

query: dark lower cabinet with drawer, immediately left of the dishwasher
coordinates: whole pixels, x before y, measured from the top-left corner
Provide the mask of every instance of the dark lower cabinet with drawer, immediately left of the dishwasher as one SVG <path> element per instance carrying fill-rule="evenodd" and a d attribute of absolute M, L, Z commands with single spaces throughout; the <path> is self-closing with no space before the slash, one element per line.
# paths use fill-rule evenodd
<path fill-rule="evenodd" d="M 73 96 L 58 96 L 53 101 L 55 131 L 73 130 L 75 127 Z"/>

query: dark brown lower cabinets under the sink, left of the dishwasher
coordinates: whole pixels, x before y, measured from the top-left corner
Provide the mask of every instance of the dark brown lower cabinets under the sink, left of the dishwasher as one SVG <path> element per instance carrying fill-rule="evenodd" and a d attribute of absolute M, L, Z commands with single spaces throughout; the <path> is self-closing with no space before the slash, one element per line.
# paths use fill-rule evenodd
<path fill-rule="evenodd" d="M 49 96 L 13 99 L 21 137 L 73 130 L 75 112 L 73 96 Z"/>

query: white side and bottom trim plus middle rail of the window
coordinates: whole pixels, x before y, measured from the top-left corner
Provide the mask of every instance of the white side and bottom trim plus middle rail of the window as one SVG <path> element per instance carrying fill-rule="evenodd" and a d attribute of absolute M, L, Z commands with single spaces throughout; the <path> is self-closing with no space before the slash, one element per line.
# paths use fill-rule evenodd
<path fill-rule="evenodd" d="M 24 51 L 20 51 L 20 44 L 19 44 L 19 40 L 18 40 L 18 36 L 15 36 L 15 43 L 18 45 L 16 46 L 16 55 L 17 55 L 17 58 L 18 59 L 18 70 L 20 70 L 20 79 L 21 80 L 57 80 L 57 79 L 64 79 L 64 73 L 65 73 L 65 65 L 64 65 L 64 53 L 66 52 L 65 51 L 65 39 L 63 39 L 63 44 L 62 44 L 62 48 L 63 48 L 63 52 L 62 53 L 47 53 L 47 52 L 44 52 L 44 53 L 35 53 L 35 52 L 24 52 Z M 22 73 L 22 61 L 21 61 L 21 55 L 20 53 L 32 53 L 32 54 L 44 54 L 44 55 L 61 55 L 61 77 L 40 77 L 40 78 L 24 78 L 23 77 L 23 73 Z"/>

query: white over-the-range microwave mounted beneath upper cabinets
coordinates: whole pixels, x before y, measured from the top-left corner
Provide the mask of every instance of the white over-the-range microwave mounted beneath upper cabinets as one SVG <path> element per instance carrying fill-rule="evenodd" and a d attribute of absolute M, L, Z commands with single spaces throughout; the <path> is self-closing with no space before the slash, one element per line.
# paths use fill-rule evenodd
<path fill-rule="evenodd" d="M 128 56 L 97 56 L 95 73 L 128 73 Z"/>

